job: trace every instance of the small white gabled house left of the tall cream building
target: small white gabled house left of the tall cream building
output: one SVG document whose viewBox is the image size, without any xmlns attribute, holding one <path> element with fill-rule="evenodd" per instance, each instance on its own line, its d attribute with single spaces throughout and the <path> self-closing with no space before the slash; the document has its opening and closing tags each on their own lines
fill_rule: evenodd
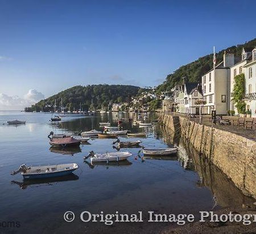
<svg viewBox="0 0 256 234">
<path fill-rule="evenodd" d="M 184 110 L 187 114 L 199 114 L 200 105 L 195 104 L 198 99 L 203 99 L 201 86 L 197 83 L 184 85 Z"/>
</svg>

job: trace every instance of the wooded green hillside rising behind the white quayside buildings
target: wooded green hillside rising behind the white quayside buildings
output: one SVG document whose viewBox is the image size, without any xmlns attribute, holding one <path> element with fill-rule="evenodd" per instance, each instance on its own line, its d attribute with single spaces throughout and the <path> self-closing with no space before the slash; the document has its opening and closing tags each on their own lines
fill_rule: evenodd
<svg viewBox="0 0 256 234">
<path fill-rule="evenodd" d="M 255 47 L 256 39 L 246 42 L 243 45 L 231 46 L 229 48 L 223 49 L 216 53 L 217 63 L 223 60 L 224 51 L 234 53 L 237 59 L 241 59 L 241 52 L 243 47 Z M 174 71 L 174 73 L 167 75 L 166 80 L 163 84 L 158 86 L 158 92 L 160 91 L 170 91 L 175 84 L 181 84 L 183 78 L 186 82 L 200 82 L 201 76 L 212 69 L 213 66 L 213 54 L 208 54 L 207 56 L 201 57 L 194 62 L 188 63 L 187 65 L 181 66 L 179 69 Z"/>
</svg>

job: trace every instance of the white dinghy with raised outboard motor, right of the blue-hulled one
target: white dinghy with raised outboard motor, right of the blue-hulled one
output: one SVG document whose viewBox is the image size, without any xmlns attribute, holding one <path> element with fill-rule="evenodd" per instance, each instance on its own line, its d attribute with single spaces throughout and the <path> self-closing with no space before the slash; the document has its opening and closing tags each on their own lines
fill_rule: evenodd
<svg viewBox="0 0 256 234">
<path fill-rule="evenodd" d="M 132 154 L 130 152 L 106 152 L 105 154 L 94 154 L 93 151 L 89 153 L 87 157 L 84 159 L 87 159 L 90 157 L 91 163 L 94 162 L 106 162 L 109 163 L 110 161 L 122 161 L 129 158 Z"/>
</svg>

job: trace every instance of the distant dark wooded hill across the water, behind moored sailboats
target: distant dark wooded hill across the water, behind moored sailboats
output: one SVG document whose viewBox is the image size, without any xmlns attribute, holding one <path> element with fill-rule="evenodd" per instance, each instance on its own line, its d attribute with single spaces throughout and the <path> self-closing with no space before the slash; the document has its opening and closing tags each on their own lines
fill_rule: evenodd
<svg viewBox="0 0 256 234">
<path fill-rule="evenodd" d="M 108 105 L 113 103 L 129 103 L 131 96 L 135 96 L 141 91 L 142 89 L 137 86 L 126 85 L 75 86 L 39 101 L 39 103 L 32 105 L 31 108 L 25 108 L 25 111 L 43 110 L 48 112 L 53 110 L 55 100 L 57 109 L 60 109 L 61 99 L 63 100 L 63 107 L 66 108 L 65 110 L 73 111 L 74 108 L 78 110 L 80 103 L 84 110 L 101 109 L 102 105 L 107 108 Z"/>
</svg>

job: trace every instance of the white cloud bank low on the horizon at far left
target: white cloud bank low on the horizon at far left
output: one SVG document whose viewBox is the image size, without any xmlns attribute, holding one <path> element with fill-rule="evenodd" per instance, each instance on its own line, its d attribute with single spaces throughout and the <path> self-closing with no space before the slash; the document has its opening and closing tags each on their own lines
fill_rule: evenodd
<svg viewBox="0 0 256 234">
<path fill-rule="evenodd" d="M 32 104 L 44 99 L 44 95 L 36 90 L 29 90 L 24 99 L 18 96 L 9 96 L 0 93 L 0 110 L 23 110 L 24 107 L 30 107 Z"/>
</svg>

